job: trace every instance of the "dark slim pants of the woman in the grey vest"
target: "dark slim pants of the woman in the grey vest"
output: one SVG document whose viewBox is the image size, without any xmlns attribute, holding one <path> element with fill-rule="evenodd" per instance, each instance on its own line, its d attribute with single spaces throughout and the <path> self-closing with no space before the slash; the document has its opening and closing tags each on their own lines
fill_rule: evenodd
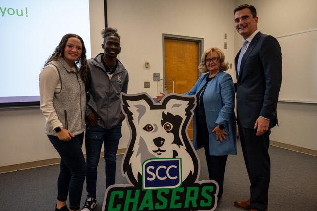
<svg viewBox="0 0 317 211">
<path fill-rule="evenodd" d="M 84 133 L 72 137 L 70 141 L 62 141 L 57 136 L 48 135 L 48 137 L 61 158 L 57 181 L 57 199 L 64 202 L 67 200 L 69 193 L 69 208 L 78 210 L 87 173 L 85 158 L 81 149 Z"/>
</svg>

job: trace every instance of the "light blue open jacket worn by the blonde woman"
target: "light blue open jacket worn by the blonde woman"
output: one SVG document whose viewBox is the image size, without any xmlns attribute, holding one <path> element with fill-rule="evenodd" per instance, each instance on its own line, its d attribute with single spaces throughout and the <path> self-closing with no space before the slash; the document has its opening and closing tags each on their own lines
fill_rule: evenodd
<svg viewBox="0 0 317 211">
<path fill-rule="evenodd" d="M 197 80 L 193 88 L 184 93 L 184 95 L 196 95 L 205 85 L 209 73 L 202 75 Z M 237 125 L 234 113 L 234 85 L 231 76 L 228 73 L 220 71 L 216 77 L 208 82 L 204 92 L 204 107 L 209 133 L 209 152 L 210 155 L 222 156 L 228 154 L 237 154 Z M 224 125 L 226 140 L 222 143 L 216 140 L 216 133 L 211 131 L 217 125 Z M 203 140 L 197 140 L 196 110 L 194 111 L 194 147 L 200 149 L 203 146 Z"/>
</svg>

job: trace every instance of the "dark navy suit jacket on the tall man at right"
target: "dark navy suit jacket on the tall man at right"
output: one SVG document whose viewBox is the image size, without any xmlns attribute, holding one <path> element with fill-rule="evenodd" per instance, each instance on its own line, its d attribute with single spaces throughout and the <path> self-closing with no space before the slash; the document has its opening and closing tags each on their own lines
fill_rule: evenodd
<svg viewBox="0 0 317 211">
<path fill-rule="evenodd" d="M 240 49 L 241 51 L 241 49 Z M 239 53 L 235 58 L 237 63 Z M 282 83 L 282 53 L 278 41 L 258 32 L 243 55 L 237 75 L 237 115 L 243 127 L 253 129 L 259 116 L 277 122 L 277 101 Z"/>
</svg>

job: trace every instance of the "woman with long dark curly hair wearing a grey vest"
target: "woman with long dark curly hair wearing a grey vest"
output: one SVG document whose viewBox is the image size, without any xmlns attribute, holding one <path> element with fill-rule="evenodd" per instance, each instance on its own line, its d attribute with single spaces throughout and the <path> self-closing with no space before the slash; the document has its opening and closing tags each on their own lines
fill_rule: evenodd
<svg viewBox="0 0 317 211">
<path fill-rule="evenodd" d="M 87 173 L 82 144 L 85 131 L 84 81 L 87 59 L 84 41 L 66 34 L 45 62 L 39 76 L 40 109 L 45 132 L 61 157 L 55 211 L 79 211 Z"/>
</svg>

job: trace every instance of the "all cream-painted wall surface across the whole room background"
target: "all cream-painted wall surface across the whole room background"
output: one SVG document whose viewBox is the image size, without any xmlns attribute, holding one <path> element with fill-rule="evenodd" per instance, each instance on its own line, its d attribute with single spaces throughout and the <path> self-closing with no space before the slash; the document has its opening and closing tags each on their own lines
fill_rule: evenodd
<svg viewBox="0 0 317 211">
<path fill-rule="evenodd" d="M 295 0 L 107 0 L 108 26 L 118 29 L 122 46 L 118 58 L 130 75 L 128 93 L 156 95 L 153 73 L 163 75 L 162 34 L 204 38 L 204 49 L 223 49 L 227 42 L 224 53 L 233 64 L 242 42 L 234 29 L 233 9 L 244 3 L 257 8 L 263 33 L 281 36 L 317 28 L 315 0 L 303 0 L 300 6 Z M 103 8 L 103 0 L 90 0 L 92 56 L 102 52 Z M 145 58 L 150 68 L 144 67 Z M 228 72 L 235 78 L 233 69 Z M 150 81 L 151 88 L 143 88 L 144 81 Z M 312 133 L 317 123 L 317 105 L 279 103 L 278 117 L 280 127 L 272 130 L 272 140 L 317 150 L 317 138 Z M 59 158 L 44 134 L 44 123 L 38 107 L 0 109 L 0 167 Z M 119 148 L 125 148 L 128 139 L 124 124 Z"/>
</svg>

